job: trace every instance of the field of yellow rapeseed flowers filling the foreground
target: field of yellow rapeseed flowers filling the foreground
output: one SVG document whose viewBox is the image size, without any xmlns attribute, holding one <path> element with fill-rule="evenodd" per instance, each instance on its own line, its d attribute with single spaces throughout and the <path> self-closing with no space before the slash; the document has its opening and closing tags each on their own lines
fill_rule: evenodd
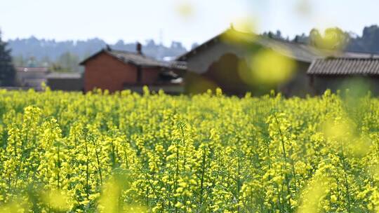
<svg viewBox="0 0 379 213">
<path fill-rule="evenodd" d="M 379 100 L 0 90 L 0 212 L 379 212 Z"/>
</svg>

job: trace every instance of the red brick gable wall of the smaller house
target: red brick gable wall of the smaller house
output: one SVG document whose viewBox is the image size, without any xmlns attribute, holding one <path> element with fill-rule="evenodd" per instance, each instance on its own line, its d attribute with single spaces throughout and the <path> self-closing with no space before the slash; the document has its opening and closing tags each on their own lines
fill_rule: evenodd
<svg viewBox="0 0 379 213">
<path fill-rule="evenodd" d="M 136 80 L 137 68 L 135 66 L 120 62 L 106 53 L 100 53 L 86 62 L 84 73 L 86 92 L 93 88 L 107 89 L 109 92 L 123 90 L 124 84 L 134 84 Z"/>
</svg>

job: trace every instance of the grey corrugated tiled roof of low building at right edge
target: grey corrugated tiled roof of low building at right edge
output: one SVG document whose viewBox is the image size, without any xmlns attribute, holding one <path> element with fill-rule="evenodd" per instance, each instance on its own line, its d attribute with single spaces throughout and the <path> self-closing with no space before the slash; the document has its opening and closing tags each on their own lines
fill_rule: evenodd
<svg viewBox="0 0 379 213">
<path fill-rule="evenodd" d="M 307 74 L 379 75 L 379 58 L 339 57 L 314 60 Z"/>
</svg>

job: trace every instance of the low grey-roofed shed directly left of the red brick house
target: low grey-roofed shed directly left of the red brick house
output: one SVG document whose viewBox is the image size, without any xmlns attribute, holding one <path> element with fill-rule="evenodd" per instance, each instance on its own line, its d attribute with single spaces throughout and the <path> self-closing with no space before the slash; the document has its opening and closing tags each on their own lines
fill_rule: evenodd
<svg viewBox="0 0 379 213">
<path fill-rule="evenodd" d="M 51 90 L 84 90 L 83 75 L 81 73 L 50 73 L 46 76 L 46 84 Z"/>
</svg>

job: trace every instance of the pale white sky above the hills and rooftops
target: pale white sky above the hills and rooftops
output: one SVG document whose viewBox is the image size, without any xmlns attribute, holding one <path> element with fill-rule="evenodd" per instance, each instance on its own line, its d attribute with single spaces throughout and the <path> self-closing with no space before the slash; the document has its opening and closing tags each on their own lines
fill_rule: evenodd
<svg viewBox="0 0 379 213">
<path fill-rule="evenodd" d="M 181 41 L 189 47 L 246 18 L 258 33 L 280 29 L 288 36 L 333 26 L 361 34 L 364 26 L 379 24 L 378 0 L 2 1 L 0 29 L 6 40 L 98 37 L 115 43 L 163 38 L 166 45 Z"/>
</svg>

